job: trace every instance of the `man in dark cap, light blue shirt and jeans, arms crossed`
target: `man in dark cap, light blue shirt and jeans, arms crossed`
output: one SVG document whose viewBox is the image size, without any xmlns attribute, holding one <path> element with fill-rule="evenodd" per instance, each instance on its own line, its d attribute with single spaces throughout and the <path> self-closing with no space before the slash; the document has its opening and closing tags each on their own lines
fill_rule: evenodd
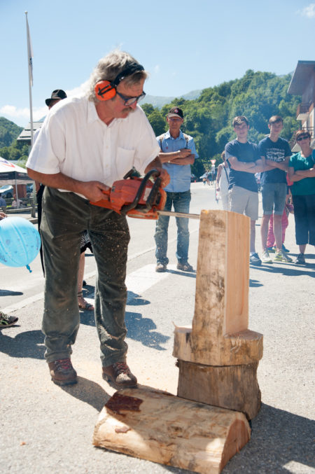
<svg viewBox="0 0 315 474">
<path fill-rule="evenodd" d="M 181 132 L 183 125 L 183 111 L 179 107 L 172 107 L 167 114 L 169 130 L 157 137 L 160 145 L 159 158 L 163 168 L 171 177 L 170 183 L 165 187 L 167 201 L 165 211 L 171 211 L 172 206 L 176 212 L 189 212 L 190 204 L 190 165 L 198 158 L 193 137 Z M 189 230 L 188 218 L 177 218 L 177 268 L 184 272 L 193 272 L 193 267 L 188 263 Z M 167 258 L 167 231 L 169 216 L 160 216 L 155 228 L 155 256 L 156 272 L 165 272 L 169 259 Z"/>
</svg>

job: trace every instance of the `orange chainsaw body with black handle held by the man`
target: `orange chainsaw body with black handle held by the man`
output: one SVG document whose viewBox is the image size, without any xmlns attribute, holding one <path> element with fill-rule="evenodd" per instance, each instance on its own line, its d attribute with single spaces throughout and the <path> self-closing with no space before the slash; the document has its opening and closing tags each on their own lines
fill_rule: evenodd
<svg viewBox="0 0 315 474">
<path fill-rule="evenodd" d="M 165 207 L 166 193 L 161 187 L 161 179 L 156 169 L 151 169 L 143 179 L 131 176 L 132 170 L 124 179 L 115 181 L 112 188 L 103 191 L 106 198 L 91 202 L 95 206 L 113 209 L 118 214 L 130 217 L 158 219 L 158 211 Z M 155 176 L 153 183 L 150 178 Z"/>
</svg>

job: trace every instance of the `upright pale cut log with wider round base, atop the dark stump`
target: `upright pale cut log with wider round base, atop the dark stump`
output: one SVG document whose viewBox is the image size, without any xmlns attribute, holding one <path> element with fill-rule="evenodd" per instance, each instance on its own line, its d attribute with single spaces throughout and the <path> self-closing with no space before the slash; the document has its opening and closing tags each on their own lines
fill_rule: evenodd
<svg viewBox="0 0 315 474">
<path fill-rule="evenodd" d="M 174 357 L 240 365 L 262 357 L 262 335 L 248 330 L 250 219 L 202 211 L 192 328 L 176 328 Z"/>
</svg>

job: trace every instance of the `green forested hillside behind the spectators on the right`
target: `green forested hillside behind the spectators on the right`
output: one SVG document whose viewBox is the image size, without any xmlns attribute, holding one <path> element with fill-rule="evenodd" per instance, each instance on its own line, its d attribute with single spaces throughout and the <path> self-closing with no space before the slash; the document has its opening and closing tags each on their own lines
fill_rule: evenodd
<svg viewBox="0 0 315 474">
<path fill-rule="evenodd" d="M 182 130 L 195 139 L 200 160 L 193 165 L 193 173 L 200 176 L 210 167 L 210 159 L 221 162 L 221 152 L 225 144 L 235 138 L 232 120 L 245 115 L 251 125 L 248 139 L 258 143 L 269 132 L 267 127 L 271 116 L 283 117 L 284 127 L 281 136 L 292 139 L 300 123 L 295 120 L 300 97 L 288 95 L 291 76 L 276 76 L 268 72 L 246 71 L 241 79 L 235 79 L 207 88 L 194 100 L 174 99 L 162 109 L 144 104 L 148 120 L 159 135 L 167 130 L 165 117 L 172 106 L 180 106 L 184 113 Z"/>
</svg>

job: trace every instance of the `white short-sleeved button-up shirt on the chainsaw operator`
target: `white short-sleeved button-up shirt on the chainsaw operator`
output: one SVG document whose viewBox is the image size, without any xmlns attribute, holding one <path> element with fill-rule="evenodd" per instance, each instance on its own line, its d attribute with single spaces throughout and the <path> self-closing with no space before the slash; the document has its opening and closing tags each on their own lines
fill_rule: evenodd
<svg viewBox="0 0 315 474">
<path fill-rule="evenodd" d="M 116 118 L 106 125 L 93 102 L 87 97 L 73 97 L 60 101 L 48 113 L 27 167 L 112 186 L 132 167 L 144 174 L 159 152 L 141 107 L 127 118 Z"/>
</svg>

